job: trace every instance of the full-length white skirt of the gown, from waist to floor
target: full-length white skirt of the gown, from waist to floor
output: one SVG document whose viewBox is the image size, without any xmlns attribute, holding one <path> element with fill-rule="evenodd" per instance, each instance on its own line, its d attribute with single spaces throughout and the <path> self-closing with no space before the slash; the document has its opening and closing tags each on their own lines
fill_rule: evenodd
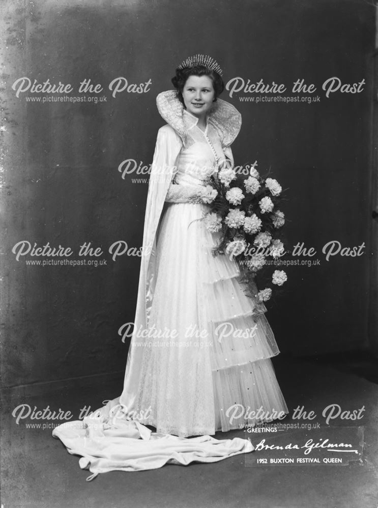
<svg viewBox="0 0 378 508">
<path fill-rule="evenodd" d="M 235 260 L 213 256 L 220 233 L 208 206 L 165 204 L 157 233 L 157 278 L 143 342 L 136 408 L 158 433 L 213 435 L 288 412 L 271 357 L 279 353 L 265 315 L 252 317 Z"/>
</svg>

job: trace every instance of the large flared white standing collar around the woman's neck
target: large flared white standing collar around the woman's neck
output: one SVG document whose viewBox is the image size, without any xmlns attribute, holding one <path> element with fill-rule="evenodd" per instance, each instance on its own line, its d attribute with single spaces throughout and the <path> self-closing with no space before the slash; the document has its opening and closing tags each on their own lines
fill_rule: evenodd
<svg viewBox="0 0 378 508">
<path fill-rule="evenodd" d="M 186 111 L 176 90 L 159 93 L 156 105 L 162 118 L 175 129 L 185 144 L 186 134 L 197 124 L 198 118 Z M 239 111 L 229 102 L 219 98 L 208 112 L 207 120 L 219 132 L 223 146 L 228 146 L 235 140 L 242 125 L 242 115 Z"/>
</svg>

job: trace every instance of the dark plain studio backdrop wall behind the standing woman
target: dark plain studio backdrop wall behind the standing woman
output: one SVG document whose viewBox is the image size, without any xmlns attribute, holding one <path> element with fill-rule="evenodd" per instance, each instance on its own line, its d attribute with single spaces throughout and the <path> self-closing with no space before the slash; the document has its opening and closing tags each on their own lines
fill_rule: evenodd
<svg viewBox="0 0 378 508">
<path fill-rule="evenodd" d="M 237 165 L 271 168 L 286 190 L 286 244 L 304 243 L 318 266 L 284 268 L 284 294 L 268 303 L 281 352 L 313 355 L 368 343 L 371 277 L 371 107 L 374 6 L 364 1 L 285 2 L 8 2 L 3 92 L 6 228 L 3 236 L 2 375 L 5 386 L 122 371 L 128 343 L 120 326 L 133 322 L 148 184 L 125 175 L 128 159 L 149 165 L 164 121 L 155 99 L 172 88 L 175 67 L 200 52 L 215 57 L 225 82 L 313 83 L 312 104 L 221 98 L 242 114 L 232 145 Z M 330 94 L 333 76 L 365 84 L 359 93 Z M 20 92 L 28 77 L 71 84 L 67 94 L 106 102 L 27 102 L 64 93 Z M 124 77 L 143 92 L 112 97 Z M 78 93 L 83 80 L 103 91 Z M 131 87 L 132 88 L 132 87 Z M 278 94 L 266 94 L 269 97 Z M 105 266 L 32 266 L 16 260 L 21 241 L 103 250 Z M 126 241 L 115 261 L 110 245 Z M 360 246 L 363 255 L 335 255 L 323 246 Z M 134 247 L 134 250 L 132 249 Z M 370 246 L 371 250 L 371 246 Z M 47 259 L 44 257 L 43 259 Z M 89 255 L 81 259 L 91 259 Z M 298 259 L 306 259 L 300 256 Z M 120 387 L 121 389 L 121 387 Z"/>
</svg>

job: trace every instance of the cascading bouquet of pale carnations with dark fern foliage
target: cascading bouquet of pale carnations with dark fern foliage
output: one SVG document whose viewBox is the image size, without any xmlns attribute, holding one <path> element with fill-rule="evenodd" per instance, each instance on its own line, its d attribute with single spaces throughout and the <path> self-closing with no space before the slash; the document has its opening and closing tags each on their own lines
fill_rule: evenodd
<svg viewBox="0 0 378 508">
<path fill-rule="evenodd" d="M 271 298 L 273 287 L 282 286 L 287 276 L 283 270 L 274 270 L 266 287 L 258 289 L 257 277 L 263 278 L 261 274 L 267 272 L 268 265 L 274 264 L 268 260 L 277 260 L 285 253 L 279 231 L 285 219 L 277 208 L 282 199 L 281 185 L 273 178 L 261 177 L 256 166 L 257 162 L 248 177 L 223 166 L 209 178 L 217 197 L 203 220 L 210 232 L 222 232 L 213 253 L 226 254 L 238 262 L 241 280 L 255 301 L 254 315 L 258 317 L 265 312 L 263 302 Z"/>
</svg>

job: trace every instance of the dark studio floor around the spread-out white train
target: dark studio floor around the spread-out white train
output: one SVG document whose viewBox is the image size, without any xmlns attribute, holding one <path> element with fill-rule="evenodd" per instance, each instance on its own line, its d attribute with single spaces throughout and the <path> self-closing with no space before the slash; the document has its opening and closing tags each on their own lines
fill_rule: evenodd
<svg viewBox="0 0 378 508">
<path fill-rule="evenodd" d="M 366 361 L 353 356 L 350 367 L 346 368 L 347 362 L 340 367 L 336 357 L 333 361 L 332 358 L 328 361 L 295 359 L 285 355 L 273 359 L 290 411 L 286 423 L 293 421 L 293 411 L 298 406 L 319 416 L 329 404 L 339 404 L 343 410 L 351 411 L 365 407 L 358 422 L 338 419 L 330 423 L 362 427 L 364 460 L 345 466 L 257 465 L 250 460 L 248 463 L 247 456 L 257 453 L 252 452 L 212 464 L 166 465 L 140 472 L 112 471 L 85 482 L 89 471 L 80 469 L 79 458 L 67 453 L 62 442 L 52 438 L 51 428 L 27 428 L 27 424 L 38 421 L 24 418 L 16 422 L 12 411 L 21 404 L 26 404 L 26 409 L 30 406 L 31 410 L 34 406 L 37 409 L 49 406 L 51 410 L 70 410 L 76 420 L 84 407 L 94 410 L 103 400 L 119 396 L 123 373 L 8 389 L 2 397 L 2 506 L 376 508 L 378 385 L 373 383 L 374 369 L 361 367 L 361 362 Z M 20 409 L 17 411 L 20 414 Z M 56 420 L 43 423 L 55 425 Z M 215 435 L 219 439 L 236 436 L 245 438 L 246 433 L 236 430 Z M 261 440 L 258 433 L 247 437 L 253 444 Z M 284 443 L 287 439 L 286 432 L 281 432 L 279 440 Z"/>
</svg>

